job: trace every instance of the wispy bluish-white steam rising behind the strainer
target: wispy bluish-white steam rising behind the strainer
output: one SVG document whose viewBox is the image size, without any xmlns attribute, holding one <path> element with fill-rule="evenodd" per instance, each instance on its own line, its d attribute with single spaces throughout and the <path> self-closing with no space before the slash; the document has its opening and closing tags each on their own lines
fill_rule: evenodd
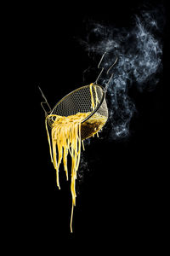
<svg viewBox="0 0 170 256">
<path fill-rule="evenodd" d="M 88 54 L 99 59 L 106 51 L 101 65 L 105 70 L 118 57 L 116 66 L 111 70 L 114 75 L 107 90 L 111 139 L 129 135 L 130 121 L 136 110 L 129 90 L 134 86 L 140 92 L 156 88 L 162 68 L 163 23 L 161 10 L 155 9 L 134 16 L 133 26 L 129 28 L 118 29 L 96 22 L 88 24 L 88 36 L 81 42 Z M 99 84 L 107 86 L 108 79 L 104 73 Z"/>
</svg>

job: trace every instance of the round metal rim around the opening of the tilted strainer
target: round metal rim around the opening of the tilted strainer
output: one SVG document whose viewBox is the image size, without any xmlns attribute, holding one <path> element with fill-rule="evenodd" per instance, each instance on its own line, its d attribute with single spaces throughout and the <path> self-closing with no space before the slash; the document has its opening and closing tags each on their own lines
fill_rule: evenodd
<svg viewBox="0 0 170 256">
<path fill-rule="evenodd" d="M 77 90 L 81 90 L 82 88 L 89 87 L 89 85 L 90 85 L 90 84 L 84 85 L 84 86 L 82 86 L 82 87 L 79 87 L 79 88 L 77 88 L 76 90 L 72 90 L 70 93 L 68 93 L 67 95 L 65 95 L 62 99 L 59 100 L 59 102 L 57 102 L 57 103 L 55 104 L 54 108 L 53 108 L 52 111 L 51 111 L 51 114 L 53 114 L 54 109 L 59 105 L 60 102 L 63 102 L 67 96 L 70 96 L 71 94 L 73 94 L 73 93 L 76 92 Z M 99 85 L 99 84 L 94 84 L 94 85 L 95 85 L 95 86 L 99 86 L 99 87 L 101 88 L 101 90 L 103 91 L 103 95 L 102 95 L 102 98 L 101 98 L 99 104 L 97 105 L 97 107 L 94 109 L 94 111 L 92 111 L 92 112 L 88 115 L 87 118 L 85 118 L 85 119 L 82 120 L 82 123 L 84 123 L 85 121 L 87 121 L 92 115 L 94 115 L 94 113 L 96 113 L 96 112 L 98 111 L 99 107 L 101 106 L 101 104 L 104 102 L 104 99 L 105 99 L 105 93 L 106 93 L 105 88 L 104 88 L 102 85 Z"/>
</svg>

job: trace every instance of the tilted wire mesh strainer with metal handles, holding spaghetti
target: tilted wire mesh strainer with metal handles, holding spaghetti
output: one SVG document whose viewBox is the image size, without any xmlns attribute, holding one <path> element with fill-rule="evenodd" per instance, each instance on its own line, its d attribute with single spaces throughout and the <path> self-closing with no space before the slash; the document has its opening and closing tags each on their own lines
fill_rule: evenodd
<svg viewBox="0 0 170 256">
<path fill-rule="evenodd" d="M 101 61 L 104 58 L 104 55 L 102 55 L 99 61 L 98 68 L 100 66 Z M 116 64 L 116 61 L 111 67 L 113 67 Z M 109 71 L 111 70 L 111 67 L 108 69 L 107 73 L 109 73 Z M 90 84 L 82 86 L 77 90 L 71 91 L 71 93 L 63 97 L 54 106 L 52 111 L 50 110 L 50 114 L 56 114 L 56 115 L 65 116 L 65 117 L 70 115 L 75 115 L 77 113 L 88 113 L 88 116 L 82 120 L 82 125 L 81 125 L 82 140 L 87 139 L 88 137 L 92 137 L 95 133 L 101 130 L 101 128 L 105 125 L 106 120 L 108 119 L 108 108 L 105 101 L 105 94 L 106 94 L 107 85 L 110 83 L 113 74 L 111 74 L 111 78 L 109 79 L 108 83 L 104 88 L 103 86 L 97 84 L 98 79 L 101 73 L 103 72 L 103 70 L 104 70 L 104 67 L 102 67 L 102 70 L 99 73 L 99 76 L 94 83 L 95 90 L 94 90 L 94 86 L 91 87 L 92 88 L 91 92 L 94 96 L 94 102 L 96 102 L 96 96 L 99 99 L 99 102 L 98 104 L 96 104 L 93 111 L 92 111 L 92 96 L 90 92 Z M 43 94 L 42 96 L 45 98 Z M 47 100 L 45 103 L 48 103 Z M 46 111 L 45 113 L 47 114 Z M 48 125 L 52 127 L 53 123 L 54 123 L 54 117 L 50 117 L 48 119 Z"/>
</svg>

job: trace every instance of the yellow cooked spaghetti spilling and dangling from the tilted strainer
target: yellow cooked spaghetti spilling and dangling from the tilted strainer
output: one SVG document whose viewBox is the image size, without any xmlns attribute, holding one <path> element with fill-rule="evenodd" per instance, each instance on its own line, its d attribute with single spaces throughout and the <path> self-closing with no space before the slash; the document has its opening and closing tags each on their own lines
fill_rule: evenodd
<svg viewBox="0 0 170 256">
<path fill-rule="evenodd" d="M 91 93 L 91 101 L 92 101 L 92 111 L 96 108 L 99 103 L 99 99 L 97 96 L 97 92 L 94 87 L 95 92 L 95 102 L 93 96 L 93 89 L 90 84 L 90 93 Z M 73 209 L 76 206 L 76 179 L 77 179 L 77 170 L 80 163 L 80 155 L 81 155 L 81 142 L 83 145 L 83 138 L 81 137 L 81 131 L 84 129 L 90 129 L 91 136 L 94 134 L 98 134 L 98 131 L 105 125 L 106 117 L 99 114 L 94 113 L 86 122 L 82 123 L 83 119 L 86 119 L 88 113 L 77 113 L 74 115 L 59 116 L 56 114 L 49 114 L 45 119 L 46 130 L 48 134 L 48 143 L 51 160 L 54 164 L 54 168 L 56 170 L 56 182 L 57 186 L 59 186 L 59 165 L 61 160 L 63 160 L 65 175 L 68 180 L 68 168 L 67 168 L 67 156 L 71 154 L 71 195 L 72 195 L 72 210 L 71 210 L 71 232 L 72 232 L 72 217 L 73 217 Z M 51 139 L 48 133 L 48 121 L 51 126 Z M 58 160 L 56 153 L 56 146 L 58 148 Z"/>
</svg>

